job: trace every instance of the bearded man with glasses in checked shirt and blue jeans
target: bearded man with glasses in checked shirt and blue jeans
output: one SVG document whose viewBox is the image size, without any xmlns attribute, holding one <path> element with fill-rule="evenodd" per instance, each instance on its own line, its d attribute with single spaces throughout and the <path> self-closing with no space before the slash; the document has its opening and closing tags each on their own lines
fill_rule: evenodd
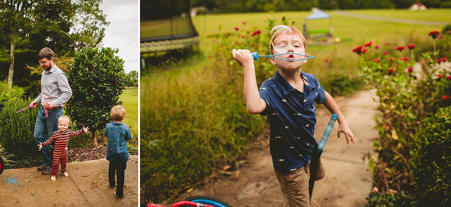
<svg viewBox="0 0 451 207">
<path fill-rule="evenodd" d="M 38 54 L 39 63 L 41 64 L 41 94 L 30 103 L 35 108 L 41 99 L 44 99 L 42 107 L 37 114 L 36 123 L 34 125 L 34 140 L 36 144 L 45 142 L 46 135 L 51 137 L 53 132 L 57 130 L 58 118 L 63 116 L 64 104 L 72 97 L 72 90 L 67 81 L 66 74 L 53 63 L 55 54 L 50 48 L 43 48 Z M 47 113 L 44 111 L 47 110 Z M 39 152 L 44 159 L 44 164 L 37 167 L 38 171 L 43 171 L 42 175 L 50 175 L 52 164 L 52 151 L 55 143 L 43 147 Z M 57 169 L 58 170 L 58 169 Z"/>
</svg>

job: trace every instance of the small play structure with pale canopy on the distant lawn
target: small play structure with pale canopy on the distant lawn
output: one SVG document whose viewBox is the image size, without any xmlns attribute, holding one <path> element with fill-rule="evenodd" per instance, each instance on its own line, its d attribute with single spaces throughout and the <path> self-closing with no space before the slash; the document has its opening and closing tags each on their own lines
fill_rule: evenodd
<svg viewBox="0 0 451 207">
<path fill-rule="evenodd" d="M 327 24 L 327 19 L 329 19 L 329 28 L 324 28 L 325 24 Z M 315 24 L 312 22 L 315 21 Z M 321 22 L 319 22 L 321 21 Z M 311 25 L 318 25 L 317 27 L 313 27 Z M 305 18 L 305 23 L 303 25 L 304 36 L 309 42 L 309 44 L 330 44 L 332 43 L 332 35 L 333 35 L 333 25 L 332 25 L 332 17 L 330 14 L 322 11 L 318 8 L 312 9 L 312 14 L 309 14 Z"/>
</svg>

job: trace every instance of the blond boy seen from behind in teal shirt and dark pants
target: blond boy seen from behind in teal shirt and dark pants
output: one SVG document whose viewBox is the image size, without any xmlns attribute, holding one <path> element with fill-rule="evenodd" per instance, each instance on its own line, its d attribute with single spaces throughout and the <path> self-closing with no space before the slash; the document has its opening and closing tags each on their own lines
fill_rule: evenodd
<svg viewBox="0 0 451 207">
<path fill-rule="evenodd" d="M 106 124 L 103 135 L 108 140 L 106 149 L 106 160 L 110 161 L 108 170 L 108 180 L 110 187 L 116 187 L 114 194 L 118 198 L 124 198 L 124 172 L 127 168 L 129 160 L 129 151 L 127 149 L 127 141 L 132 139 L 129 126 L 122 123 L 125 118 L 125 108 L 121 105 L 111 108 L 110 117 L 113 119 L 111 123 Z M 117 183 L 115 183 L 115 174 Z"/>
</svg>

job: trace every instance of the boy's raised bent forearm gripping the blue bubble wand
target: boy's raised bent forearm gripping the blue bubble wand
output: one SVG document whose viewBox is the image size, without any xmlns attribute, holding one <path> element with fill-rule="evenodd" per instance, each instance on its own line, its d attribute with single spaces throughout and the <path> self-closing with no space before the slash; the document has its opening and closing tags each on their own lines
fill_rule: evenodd
<svg viewBox="0 0 451 207">
<path fill-rule="evenodd" d="M 266 108 L 265 101 L 260 98 L 257 87 L 257 79 L 255 78 L 255 66 L 253 57 L 249 49 L 233 49 L 232 56 L 243 66 L 244 71 L 244 101 L 248 112 L 252 114 L 259 114 Z"/>
</svg>

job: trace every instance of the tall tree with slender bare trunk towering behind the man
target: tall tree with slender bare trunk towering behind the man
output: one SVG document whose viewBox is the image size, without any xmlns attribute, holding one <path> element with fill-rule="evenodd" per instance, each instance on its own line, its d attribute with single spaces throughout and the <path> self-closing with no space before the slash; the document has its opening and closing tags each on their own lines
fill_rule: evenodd
<svg viewBox="0 0 451 207">
<path fill-rule="evenodd" d="M 109 24 L 100 4 L 101 0 L 0 1 L 0 62 L 9 63 L 9 87 L 18 54 L 28 54 L 20 62 L 35 63 L 36 53 L 46 46 L 63 54 L 98 46 Z"/>
</svg>

